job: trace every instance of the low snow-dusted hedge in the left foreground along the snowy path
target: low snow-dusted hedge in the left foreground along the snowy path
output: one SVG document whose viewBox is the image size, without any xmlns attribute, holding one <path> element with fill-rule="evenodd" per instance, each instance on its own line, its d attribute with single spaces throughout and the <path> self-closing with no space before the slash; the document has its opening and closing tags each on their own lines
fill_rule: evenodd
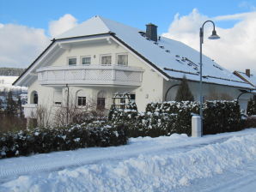
<svg viewBox="0 0 256 192">
<path fill-rule="evenodd" d="M 74 125 L 67 128 L 31 129 L 0 135 L 0 158 L 73 150 L 81 147 L 124 145 L 127 137 L 122 124 Z"/>
</svg>

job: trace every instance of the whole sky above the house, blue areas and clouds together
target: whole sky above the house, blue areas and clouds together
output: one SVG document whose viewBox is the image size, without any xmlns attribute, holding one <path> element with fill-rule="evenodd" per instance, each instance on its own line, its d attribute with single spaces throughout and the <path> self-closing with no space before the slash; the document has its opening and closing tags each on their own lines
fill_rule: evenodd
<svg viewBox="0 0 256 192">
<path fill-rule="evenodd" d="M 0 67 L 27 68 L 60 33 L 94 15 L 145 29 L 152 22 L 158 34 L 199 49 L 199 27 L 216 23 L 218 40 L 208 40 L 203 52 L 233 70 L 256 75 L 256 0 L 0 0 Z"/>
</svg>

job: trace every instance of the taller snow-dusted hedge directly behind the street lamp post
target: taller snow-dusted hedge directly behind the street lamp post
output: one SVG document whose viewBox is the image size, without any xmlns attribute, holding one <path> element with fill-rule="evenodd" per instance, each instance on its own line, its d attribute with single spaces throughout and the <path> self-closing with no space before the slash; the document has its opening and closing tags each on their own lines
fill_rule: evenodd
<svg viewBox="0 0 256 192">
<path fill-rule="evenodd" d="M 241 112 L 235 101 L 207 101 L 204 107 L 204 135 L 242 129 Z M 191 118 L 198 114 L 198 102 L 150 103 L 146 112 L 125 109 L 112 111 L 113 123 L 125 123 L 128 137 L 192 134 Z"/>
</svg>

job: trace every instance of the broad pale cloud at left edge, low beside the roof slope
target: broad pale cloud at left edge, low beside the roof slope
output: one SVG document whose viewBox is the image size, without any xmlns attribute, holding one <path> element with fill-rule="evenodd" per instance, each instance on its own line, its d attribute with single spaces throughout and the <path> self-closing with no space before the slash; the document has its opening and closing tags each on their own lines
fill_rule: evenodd
<svg viewBox="0 0 256 192">
<path fill-rule="evenodd" d="M 0 24 L 0 42 L 0 67 L 24 68 L 46 48 L 50 40 L 43 29 Z"/>
</svg>

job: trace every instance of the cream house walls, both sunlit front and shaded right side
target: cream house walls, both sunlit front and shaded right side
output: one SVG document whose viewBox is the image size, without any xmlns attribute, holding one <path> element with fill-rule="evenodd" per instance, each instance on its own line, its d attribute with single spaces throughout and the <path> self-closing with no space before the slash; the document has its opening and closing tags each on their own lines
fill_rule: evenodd
<svg viewBox="0 0 256 192">
<path fill-rule="evenodd" d="M 155 69 L 150 67 L 145 63 L 141 58 L 137 57 L 136 54 L 129 51 L 123 45 L 119 45 L 113 40 L 107 41 L 101 40 L 101 42 L 96 43 L 82 43 L 79 45 L 71 45 L 68 49 L 61 51 L 62 53 L 58 57 L 54 57 L 52 61 L 47 61 L 44 64 L 44 67 L 69 67 L 68 58 L 76 57 L 76 65 L 82 65 L 81 57 L 91 57 L 91 66 L 101 65 L 101 56 L 102 55 L 111 55 L 112 56 L 112 65 L 117 65 L 117 56 L 120 53 L 125 53 L 128 55 L 128 67 L 134 67 L 138 69 L 143 69 L 142 81 L 140 86 L 119 86 L 119 85 L 93 85 L 93 84 L 70 84 L 68 85 L 70 90 L 70 102 L 74 102 L 77 105 L 76 94 L 78 91 L 82 91 L 84 96 L 87 99 L 89 105 L 96 105 L 97 95 L 99 92 L 104 91 L 106 93 L 106 109 L 110 109 L 110 106 L 113 104 L 113 94 L 114 93 L 135 93 L 136 94 L 136 103 L 138 111 L 144 111 L 146 105 L 149 102 L 162 102 L 164 100 L 174 100 L 178 87 L 180 84 L 178 80 L 166 81 L 162 75 L 159 74 Z M 188 85 L 191 88 L 192 94 L 194 95 L 195 100 L 199 100 L 199 83 L 188 81 Z M 172 87 L 169 91 L 168 89 Z M 39 95 L 39 105 L 44 105 L 47 108 L 51 108 L 52 117 L 54 112 L 59 109 L 61 106 L 66 106 L 67 87 L 63 85 L 47 85 L 42 86 L 38 79 L 36 79 L 28 87 L 28 105 L 33 104 L 32 93 L 36 91 Z M 166 93 L 167 97 L 166 97 Z M 216 84 L 206 84 L 203 83 L 203 95 L 204 99 L 212 99 L 213 96 L 220 99 L 222 96 L 226 96 L 229 99 L 237 99 L 241 92 L 237 87 L 222 86 Z M 56 104 L 56 98 L 58 94 L 61 94 L 61 99 L 58 100 L 61 102 L 61 105 Z M 228 97 L 229 95 L 229 97 Z M 59 96 L 59 95 L 58 95 Z M 250 95 L 242 95 L 240 102 L 241 108 L 246 110 L 247 108 L 247 99 Z"/>
</svg>

